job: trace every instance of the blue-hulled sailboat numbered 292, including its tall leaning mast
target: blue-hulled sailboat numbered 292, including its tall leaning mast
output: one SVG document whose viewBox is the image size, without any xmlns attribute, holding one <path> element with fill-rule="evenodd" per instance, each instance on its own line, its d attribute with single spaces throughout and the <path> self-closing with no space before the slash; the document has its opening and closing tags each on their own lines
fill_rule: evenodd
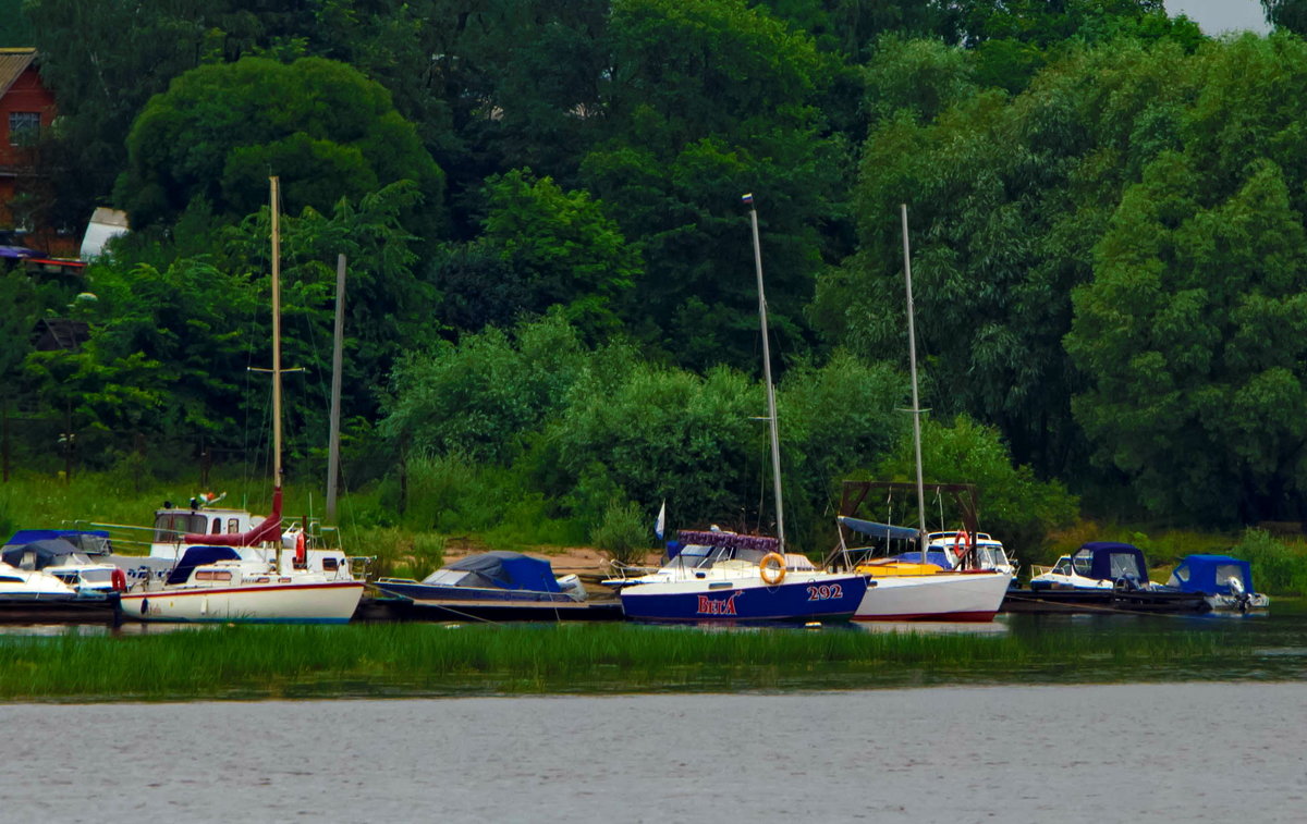
<svg viewBox="0 0 1307 824">
<path fill-rule="evenodd" d="M 763 383 L 767 388 L 771 469 L 776 499 L 776 535 L 741 535 L 719 529 L 680 533 L 684 547 L 660 569 L 638 578 L 606 581 L 620 586 L 626 618 L 644 622 L 748 623 L 847 620 L 867 594 L 867 576 L 817 569 L 802 555 L 786 552 L 780 495 L 780 445 L 776 394 L 771 385 L 767 302 L 762 293 L 758 212 L 745 195 L 753 222 L 762 324 Z"/>
</svg>

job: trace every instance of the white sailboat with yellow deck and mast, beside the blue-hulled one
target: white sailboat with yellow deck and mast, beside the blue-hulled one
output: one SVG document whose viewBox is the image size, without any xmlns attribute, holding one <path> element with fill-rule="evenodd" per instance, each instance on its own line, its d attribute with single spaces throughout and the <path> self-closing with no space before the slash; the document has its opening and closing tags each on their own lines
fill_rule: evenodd
<svg viewBox="0 0 1307 824">
<path fill-rule="evenodd" d="M 916 503 L 920 528 L 914 530 L 887 524 L 840 518 L 857 531 L 891 538 L 908 538 L 920 547 L 920 563 L 894 560 L 889 564 L 867 563 L 865 551 L 848 550 L 840 533 L 836 563 L 853 572 L 873 577 L 874 585 L 853 612 L 853 620 L 993 620 L 1012 582 L 1012 576 L 995 569 L 942 571 L 928 563 L 925 530 L 925 483 L 921 471 L 921 405 L 916 381 L 916 332 L 912 308 L 912 259 L 907 235 L 907 205 L 903 218 L 903 276 L 907 283 L 908 364 L 912 375 L 912 437 L 916 447 Z M 910 556 L 911 558 L 911 556 Z"/>
</svg>

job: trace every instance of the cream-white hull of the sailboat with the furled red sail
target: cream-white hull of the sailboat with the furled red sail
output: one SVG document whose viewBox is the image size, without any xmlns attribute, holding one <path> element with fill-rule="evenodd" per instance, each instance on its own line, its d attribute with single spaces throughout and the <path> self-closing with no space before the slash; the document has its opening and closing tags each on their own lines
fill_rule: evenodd
<svg viewBox="0 0 1307 824">
<path fill-rule="evenodd" d="M 142 622 L 344 624 L 362 595 L 362 581 L 178 588 L 125 593 L 122 615 Z"/>
</svg>

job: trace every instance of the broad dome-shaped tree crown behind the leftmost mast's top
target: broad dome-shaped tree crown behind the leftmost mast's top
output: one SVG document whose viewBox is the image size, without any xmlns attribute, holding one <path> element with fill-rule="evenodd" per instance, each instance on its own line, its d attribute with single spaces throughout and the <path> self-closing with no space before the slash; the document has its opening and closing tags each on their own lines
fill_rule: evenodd
<svg viewBox="0 0 1307 824">
<path fill-rule="evenodd" d="M 426 209 L 410 209 L 406 223 L 420 234 L 440 225 L 443 175 L 413 125 L 380 85 L 331 60 L 244 57 L 192 69 L 150 99 L 127 146 L 116 196 L 137 229 L 201 200 L 218 215 L 243 217 L 265 200 L 269 175 L 281 176 L 290 212 L 324 212 L 413 180 Z"/>
</svg>

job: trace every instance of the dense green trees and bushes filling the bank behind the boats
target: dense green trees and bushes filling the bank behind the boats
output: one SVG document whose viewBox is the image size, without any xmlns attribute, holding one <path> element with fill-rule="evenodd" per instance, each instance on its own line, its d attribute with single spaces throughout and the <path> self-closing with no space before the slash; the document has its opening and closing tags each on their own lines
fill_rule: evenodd
<svg viewBox="0 0 1307 824">
<path fill-rule="evenodd" d="M 769 529 L 752 192 L 805 548 L 842 479 L 912 474 L 901 204 L 925 473 L 987 528 L 1038 547 L 1072 494 L 1302 520 L 1297 5 L 1209 40 L 1161 0 L 26 0 L 55 212 L 137 231 L 86 282 L 0 273 L 18 440 L 47 470 L 56 428 L 101 467 L 252 452 L 276 174 L 291 453 L 319 469 L 346 253 L 374 526 L 587 541 L 667 500 Z M 34 351 L 54 316 L 86 345 Z"/>
</svg>

